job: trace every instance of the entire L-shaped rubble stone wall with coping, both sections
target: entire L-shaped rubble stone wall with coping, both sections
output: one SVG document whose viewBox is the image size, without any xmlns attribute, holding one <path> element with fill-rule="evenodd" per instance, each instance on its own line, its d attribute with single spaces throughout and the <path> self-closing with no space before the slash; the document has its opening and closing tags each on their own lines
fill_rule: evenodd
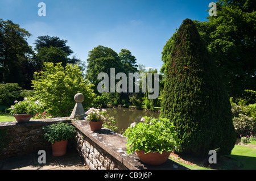
<svg viewBox="0 0 256 181">
<path fill-rule="evenodd" d="M 102 128 L 98 132 L 92 132 L 88 121 L 71 121 L 69 117 L 30 120 L 23 124 L 18 124 L 16 121 L 0 123 L 0 131 L 7 130 L 7 135 L 11 138 L 10 144 L 0 150 L 0 159 L 37 153 L 39 150 L 51 150 L 51 144 L 43 139 L 42 128 L 60 121 L 75 126 L 76 137 L 68 141 L 68 146 L 76 148 L 78 155 L 84 159 L 89 169 L 186 169 L 170 159 L 160 166 L 143 164 L 135 153 L 132 155 L 126 154 L 127 141 L 121 134 L 106 128 Z"/>
</svg>

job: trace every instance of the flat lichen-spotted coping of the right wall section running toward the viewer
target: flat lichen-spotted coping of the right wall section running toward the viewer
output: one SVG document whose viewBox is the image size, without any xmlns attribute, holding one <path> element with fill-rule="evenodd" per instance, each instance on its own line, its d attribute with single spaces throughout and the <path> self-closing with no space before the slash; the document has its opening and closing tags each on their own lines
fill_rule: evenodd
<svg viewBox="0 0 256 181">
<path fill-rule="evenodd" d="M 179 165 L 178 163 L 168 159 L 166 163 L 158 166 L 151 166 L 139 161 L 138 156 L 133 153 L 127 155 L 126 153 L 126 137 L 111 131 L 107 128 L 102 128 L 101 131 L 93 132 L 90 130 L 89 121 L 76 120 L 72 121 L 72 124 L 79 129 L 85 136 L 100 146 L 102 149 L 107 151 L 110 155 L 116 158 L 119 162 L 130 170 L 184 170 L 186 167 Z"/>
</svg>

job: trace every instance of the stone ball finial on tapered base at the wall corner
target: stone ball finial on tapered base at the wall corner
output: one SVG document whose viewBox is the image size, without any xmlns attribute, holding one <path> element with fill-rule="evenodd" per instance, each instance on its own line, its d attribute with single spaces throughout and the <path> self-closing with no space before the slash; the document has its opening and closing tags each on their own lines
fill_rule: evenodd
<svg viewBox="0 0 256 181">
<path fill-rule="evenodd" d="M 71 119 L 84 119 L 85 117 L 85 111 L 84 111 L 84 107 L 82 107 L 82 102 L 84 101 L 84 95 L 81 93 L 77 93 L 74 96 L 74 100 L 76 102 L 76 105 L 71 113 L 70 118 Z"/>
</svg>

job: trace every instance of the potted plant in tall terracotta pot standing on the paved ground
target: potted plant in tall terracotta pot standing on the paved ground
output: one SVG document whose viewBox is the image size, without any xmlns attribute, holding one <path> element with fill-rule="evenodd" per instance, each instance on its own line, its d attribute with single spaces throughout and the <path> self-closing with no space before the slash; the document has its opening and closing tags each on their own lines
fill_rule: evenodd
<svg viewBox="0 0 256 181">
<path fill-rule="evenodd" d="M 69 138 L 75 136 L 76 129 L 68 123 L 59 122 L 43 128 L 44 139 L 51 142 L 52 155 L 60 157 L 66 154 Z"/>
</svg>

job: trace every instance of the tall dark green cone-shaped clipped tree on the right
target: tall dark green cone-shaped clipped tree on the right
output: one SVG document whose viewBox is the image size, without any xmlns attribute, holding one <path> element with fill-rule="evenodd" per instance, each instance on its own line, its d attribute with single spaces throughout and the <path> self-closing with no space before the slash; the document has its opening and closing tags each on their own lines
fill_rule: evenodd
<svg viewBox="0 0 256 181">
<path fill-rule="evenodd" d="M 220 71 L 192 20 L 183 20 L 172 39 L 160 116 L 174 123 L 184 153 L 230 154 L 236 133 Z"/>
</svg>

